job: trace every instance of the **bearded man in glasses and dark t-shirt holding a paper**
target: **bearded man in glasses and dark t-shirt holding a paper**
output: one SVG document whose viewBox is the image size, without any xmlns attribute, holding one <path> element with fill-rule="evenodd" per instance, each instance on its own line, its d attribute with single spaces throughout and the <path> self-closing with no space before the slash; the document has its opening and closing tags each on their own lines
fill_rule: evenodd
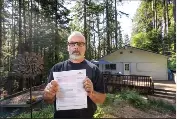
<svg viewBox="0 0 177 119">
<path fill-rule="evenodd" d="M 104 81 L 98 67 L 84 58 L 85 37 L 80 32 L 73 32 L 68 37 L 69 60 L 54 65 L 51 69 L 48 84 L 44 90 L 44 101 L 54 103 L 54 118 L 93 118 L 96 104 L 102 104 L 106 98 Z M 53 72 L 86 69 L 83 87 L 87 91 L 88 107 L 84 109 L 56 111 L 56 92 L 60 84 L 53 79 Z M 68 74 L 69 75 L 69 74 Z"/>
</svg>

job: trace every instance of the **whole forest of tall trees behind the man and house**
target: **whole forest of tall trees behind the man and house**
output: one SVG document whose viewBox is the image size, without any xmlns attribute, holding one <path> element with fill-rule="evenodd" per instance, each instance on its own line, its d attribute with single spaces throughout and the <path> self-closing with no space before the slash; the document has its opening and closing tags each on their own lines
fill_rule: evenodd
<svg viewBox="0 0 177 119">
<path fill-rule="evenodd" d="M 131 1 L 131 0 L 130 0 Z M 124 45 L 167 55 L 176 69 L 176 0 L 142 0 L 132 19 L 131 37 L 122 35 L 119 18 L 129 14 L 117 8 L 122 0 L 1 0 L 1 76 L 12 71 L 19 54 L 34 52 L 43 58 L 44 75 L 68 58 L 67 37 L 81 31 L 88 60 L 98 60 Z M 127 1 L 126 1 L 127 2 Z M 131 4 L 131 3 L 130 3 Z M 126 42 L 125 42 L 126 41 Z"/>
</svg>

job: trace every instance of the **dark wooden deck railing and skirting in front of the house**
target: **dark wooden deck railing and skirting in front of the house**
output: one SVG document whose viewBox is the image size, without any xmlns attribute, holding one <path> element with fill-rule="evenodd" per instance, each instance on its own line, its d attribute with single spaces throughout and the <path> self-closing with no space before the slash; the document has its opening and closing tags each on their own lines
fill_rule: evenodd
<svg viewBox="0 0 177 119">
<path fill-rule="evenodd" d="M 123 88 L 136 89 L 140 93 L 153 94 L 154 83 L 150 76 L 103 74 L 107 92 L 112 93 Z"/>
</svg>

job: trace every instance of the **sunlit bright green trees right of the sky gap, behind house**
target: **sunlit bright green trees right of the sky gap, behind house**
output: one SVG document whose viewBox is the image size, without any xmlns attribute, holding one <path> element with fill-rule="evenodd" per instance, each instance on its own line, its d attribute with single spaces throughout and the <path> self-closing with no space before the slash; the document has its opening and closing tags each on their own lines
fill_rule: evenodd
<svg viewBox="0 0 177 119">
<path fill-rule="evenodd" d="M 162 19 L 166 20 L 166 24 Z M 172 52 L 176 38 L 174 24 L 172 2 L 168 2 L 167 11 L 167 6 L 164 7 L 162 1 L 156 0 L 156 4 L 154 0 L 142 1 L 133 18 L 131 44 L 161 54 L 163 51 L 164 54 Z M 174 64 L 171 62 L 170 67 Z"/>
</svg>

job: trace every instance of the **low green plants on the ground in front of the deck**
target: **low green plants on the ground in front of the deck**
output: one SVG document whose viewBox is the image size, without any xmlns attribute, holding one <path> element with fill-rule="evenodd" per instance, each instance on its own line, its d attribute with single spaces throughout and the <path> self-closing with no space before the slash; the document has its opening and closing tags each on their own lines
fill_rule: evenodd
<svg viewBox="0 0 177 119">
<path fill-rule="evenodd" d="M 126 103 L 126 101 L 136 108 L 140 108 L 141 110 L 149 110 L 154 109 L 157 111 L 171 111 L 175 113 L 176 107 L 170 103 L 164 102 L 163 100 L 154 100 L 154 99 L 146 99 L 142 95 L 140 95 L 135 90 L 124 89 L 119 94 L 108 94 L 106 97 L 106 101 L 103 106 L 107 105 L 120 105 L 122 103 Z"/>
</svg>

